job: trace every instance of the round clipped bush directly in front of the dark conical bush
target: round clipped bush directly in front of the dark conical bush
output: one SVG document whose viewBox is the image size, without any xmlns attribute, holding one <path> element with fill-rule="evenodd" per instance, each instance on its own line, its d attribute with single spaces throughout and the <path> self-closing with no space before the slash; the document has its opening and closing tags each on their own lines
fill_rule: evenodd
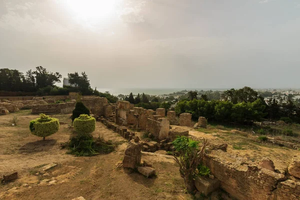
<svg viewBox="0 0 300 200">
<path fill-rule="evenodd" d="M 80 114 L 78 118 L 73 121 L 74 129 L 79 134 L 88 134 L 95 130 L 96 120 L 87 114 Z"/>
</svg>

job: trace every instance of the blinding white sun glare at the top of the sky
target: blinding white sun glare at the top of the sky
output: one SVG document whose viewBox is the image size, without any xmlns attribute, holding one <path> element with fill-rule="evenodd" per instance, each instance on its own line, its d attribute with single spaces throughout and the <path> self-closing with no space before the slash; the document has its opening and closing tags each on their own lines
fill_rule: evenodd
<svg viewBox="0 0 300 200">
<path fill-rule="evenodd" d="M 74 17 L 83 20 L 103 20 L 115 13 L 119 0 L 65 0 Z"/>
</svg>

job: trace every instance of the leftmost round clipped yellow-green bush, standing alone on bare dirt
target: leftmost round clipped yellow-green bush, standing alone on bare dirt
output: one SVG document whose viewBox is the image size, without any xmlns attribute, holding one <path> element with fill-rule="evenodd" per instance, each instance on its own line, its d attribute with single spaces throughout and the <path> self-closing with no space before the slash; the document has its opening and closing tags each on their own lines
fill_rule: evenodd
<svg viewBox="0 0 300 200">
<path fill-rule="evenodd" d="M 39 114 L 39 118 L 33 119 L 29 123 L 29 129 L 32 134 L 43 137 L 49 136 L 59 129 L 57 118 L 51 118 L 45 114 Z"/>
</svg>

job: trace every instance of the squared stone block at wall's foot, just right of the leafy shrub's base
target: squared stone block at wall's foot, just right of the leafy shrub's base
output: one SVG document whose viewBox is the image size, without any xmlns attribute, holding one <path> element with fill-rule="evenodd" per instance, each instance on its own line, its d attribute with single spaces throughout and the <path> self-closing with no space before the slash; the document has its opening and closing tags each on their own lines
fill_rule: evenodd
<svg viewBox="0 0 300 200">
<path fill-rule="evenodd" d="M 220 186 L 220 181 L 216 178 L 210 179 L 207 177 L 198 176 L 195 181 L 195 187 L 201 193 L 204 193 L 205 196 L 215 191 Z"/>
</svg>

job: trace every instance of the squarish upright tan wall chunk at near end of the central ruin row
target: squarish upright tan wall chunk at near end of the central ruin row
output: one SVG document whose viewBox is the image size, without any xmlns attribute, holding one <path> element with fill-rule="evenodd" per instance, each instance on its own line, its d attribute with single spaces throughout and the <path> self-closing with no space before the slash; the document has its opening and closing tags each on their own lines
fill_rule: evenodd
<svg viewBox="0 0 300 200">
<path fill-rule="evenodd" d="M 166 118 L 160 118 L 159 120 L 147 118 L 146 130 L 158 140 L 162 140 L 168 136 L 169 125 Z"/>
</svg>

